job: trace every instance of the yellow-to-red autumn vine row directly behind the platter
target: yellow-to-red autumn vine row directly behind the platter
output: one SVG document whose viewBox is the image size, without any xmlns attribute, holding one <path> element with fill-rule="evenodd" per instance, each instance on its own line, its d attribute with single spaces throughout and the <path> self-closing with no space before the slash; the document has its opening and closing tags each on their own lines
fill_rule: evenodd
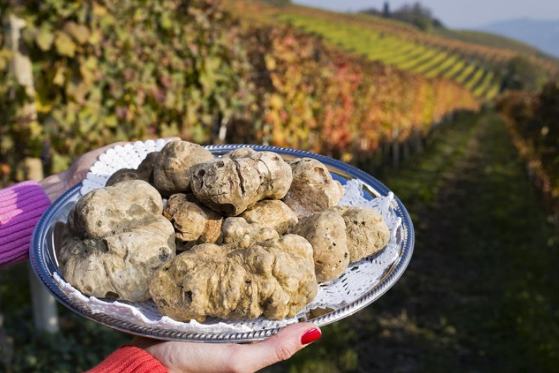
<svg viewBox="0 0 559 373">
<path fill-rule="evenodd" d="M 3 47 L 4 182 L 23 178 L 24 157 L 56 172 L 104 143 L 177 134 L 366 160 L 479 108 L 455 82 L 347 54 L 288 25 L 255 24 L 209 0 L 78 3 L 13 8 L 27 21 L 34 93 L 17 84 Z M 30 103 L 36 117 L 22 115 Z"/>
</svg>

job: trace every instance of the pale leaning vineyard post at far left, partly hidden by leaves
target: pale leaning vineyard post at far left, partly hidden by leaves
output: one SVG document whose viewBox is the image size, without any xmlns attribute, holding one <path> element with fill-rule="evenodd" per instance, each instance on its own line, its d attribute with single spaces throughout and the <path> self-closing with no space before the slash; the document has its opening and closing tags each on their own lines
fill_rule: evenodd
<svg viewBox="0 0 559 373">
<path fill-rule="evenodd" d="M 17 18 L 14 14 L 5 14 L 3 18 L 3 32 L 6 47 L 12 51 L 12 62 L 10 69 L 19 84 L 25 86 L 25 92 L 29 97 L 34 97 L 33 71 L 30 58 L 20 47 L 21 29 L 25 26 L 23 19 Z M 21 109 L 21 117 L 36 121 L 36 108 L 31 101 Z M 38 158 L 25 158 L 23 161 L 25 175 L 28 180 L 43 179 L 43 163 Z M 58 332 L 58 311 L 56 310 L 56 300 L 52 298 L 47 289 L 41 285 L 36 278 L 31 267 L 27 267 L 31 298 L 33 306 L 33 322 L 36 330 L 46 331 L 47 333 Z"/>
</svg>

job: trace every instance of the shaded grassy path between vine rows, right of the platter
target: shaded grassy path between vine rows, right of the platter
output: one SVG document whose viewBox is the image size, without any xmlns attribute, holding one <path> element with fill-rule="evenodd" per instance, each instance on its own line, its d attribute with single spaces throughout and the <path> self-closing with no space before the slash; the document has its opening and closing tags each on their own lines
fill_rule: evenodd
<svg viewBox="0 0 559 373">
<path fill-rule="evenodd" d="M 409 208 L 402 279 L 274 372 L 556 372 L 559 249 L 499 117 L 463 117 L 378 176 Z"/>
</svg>

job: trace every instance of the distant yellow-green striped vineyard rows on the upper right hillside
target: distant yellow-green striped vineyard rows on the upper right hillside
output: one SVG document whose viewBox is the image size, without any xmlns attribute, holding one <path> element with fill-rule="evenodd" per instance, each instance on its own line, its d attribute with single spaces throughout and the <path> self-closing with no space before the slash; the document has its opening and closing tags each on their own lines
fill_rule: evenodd
<svg viewBox="0 0 559 373">
<path fill-rule="evenodd" d="M 288 23 L 315 33 L 328 42 L 369 60 L 425 77 L 444 77 L 466 87 L 480 99 L 492 99 L 501 89 L 503 70 L 518 54 L 526 56 L 548 76 L 559 73 L 559 62 L 520 43 L 507 48 L 490 47 L 464 40 L 488 40 L 466 32 L 446 32 L 448 38 L 420 32 L 415 27 L 369 14 L 341 14 L 297 5 L 274 7 L 258 2 L 228 3 L 233 12 L 266 22 Z M 242 9 L 242 12 L 240 11 Z M 247 12 L 249 10 L 249 12 Z M 497 39 L 499 40 L 499 39 Z M 514 49 L 512 49 L 514 48 Z M 541 53 L 540 53 L 541 54 Z"/>
</svg>

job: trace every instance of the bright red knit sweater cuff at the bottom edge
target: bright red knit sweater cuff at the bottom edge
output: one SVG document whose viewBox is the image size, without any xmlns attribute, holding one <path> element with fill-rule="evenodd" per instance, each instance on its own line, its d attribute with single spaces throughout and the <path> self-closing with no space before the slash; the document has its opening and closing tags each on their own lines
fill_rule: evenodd
<svg viewBox="0 0 559 373">
<path fill-rule="evenodd" d="M 86 373 L 168 373 L 148 352 L 133 346 L 122 346 Z"/>
</svg>

